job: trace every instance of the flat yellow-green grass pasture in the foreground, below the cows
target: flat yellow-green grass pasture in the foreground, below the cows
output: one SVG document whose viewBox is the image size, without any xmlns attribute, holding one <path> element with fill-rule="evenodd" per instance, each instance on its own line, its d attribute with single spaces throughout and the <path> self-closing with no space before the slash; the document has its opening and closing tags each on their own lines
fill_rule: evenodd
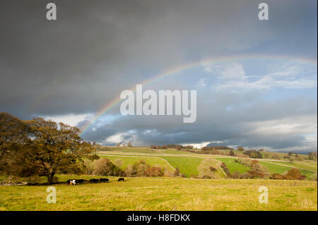
<svg viewBox="0 0 318 225">
<path fill-rule="evenodd" d="M 127 179 L 55 185 L 56 204 L 46 202 L 47 186 L 0 186 L 0 210 L 317 210 L 315 181 Z M 268 204 L 259 203 L 259 186 L 269 189 Z"/>
</svg>

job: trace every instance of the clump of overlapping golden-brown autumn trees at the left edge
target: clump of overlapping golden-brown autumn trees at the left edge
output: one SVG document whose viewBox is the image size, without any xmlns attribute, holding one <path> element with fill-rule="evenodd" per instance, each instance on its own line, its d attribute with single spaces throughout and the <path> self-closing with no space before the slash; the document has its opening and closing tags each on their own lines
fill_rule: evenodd
<svg viewBox="0 0 318 225">
<path fill-rule="evenodd" d="M 9 114 L 1 114 L 1 122 L 0 148 L 1 155 L 7 154 L 6 174 L 46 176 L 52 183 L 55 174 L 79 173 L 76 162 L 93 157 L 92 146 L 81 139 L 76 127 L 44 118 L 21 121 Z"/>
</svg>

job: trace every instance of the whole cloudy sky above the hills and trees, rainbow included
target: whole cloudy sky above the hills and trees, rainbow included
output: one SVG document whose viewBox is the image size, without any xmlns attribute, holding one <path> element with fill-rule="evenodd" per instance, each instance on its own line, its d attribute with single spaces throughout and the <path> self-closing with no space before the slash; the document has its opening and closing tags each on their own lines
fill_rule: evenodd
<svg viewBox="0 0 318 225">
<path fill-rule="evenodd" d="M 261 2 L 1 1 L 0 111 L 102 145 L 317 151 L 317 1 Z M 196 90 L 196 121 L 123 116 L 137 84 Z"/>
</svg>

